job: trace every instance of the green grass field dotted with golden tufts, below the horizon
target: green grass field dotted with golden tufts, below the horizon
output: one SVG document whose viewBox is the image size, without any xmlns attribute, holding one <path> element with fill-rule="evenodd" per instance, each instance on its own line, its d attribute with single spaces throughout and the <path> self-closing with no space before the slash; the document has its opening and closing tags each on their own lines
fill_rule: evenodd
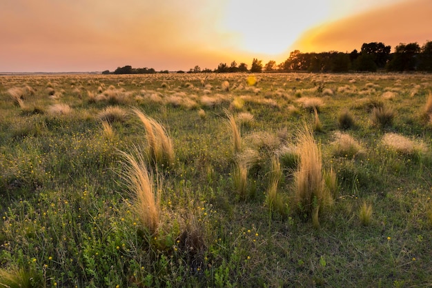
<svg viewBox="0 0 432 288">
<path fill-rule="evenodd" d="M 429 74 L 1 76 L 0 283 L 431 286 L 431 91 Z"/>
</svg>

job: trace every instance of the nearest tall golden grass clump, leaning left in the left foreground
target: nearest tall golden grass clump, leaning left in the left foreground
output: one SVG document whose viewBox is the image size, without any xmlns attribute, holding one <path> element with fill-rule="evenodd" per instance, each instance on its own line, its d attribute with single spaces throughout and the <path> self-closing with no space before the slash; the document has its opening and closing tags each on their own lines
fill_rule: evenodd
<svg viewBox="0 0 432 288">
<path fill-rule="evenodd" d="M 135 156 L 123 151 L 120 154 L 124 158 L 121 176 L 132 192 L 135 213 L 141 224 L 153 235 L 159 227 L 160 214 L 160 198 L 153 183 L 153 173 L 147 168 L 146 161 L 136 147 Z"/>
</svg>

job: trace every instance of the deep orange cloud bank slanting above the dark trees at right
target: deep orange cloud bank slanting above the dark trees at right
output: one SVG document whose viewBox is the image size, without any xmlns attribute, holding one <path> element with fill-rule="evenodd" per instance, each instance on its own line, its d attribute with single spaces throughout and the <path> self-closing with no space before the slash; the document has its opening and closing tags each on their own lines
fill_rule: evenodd
<svg viewBox="0 0 432 288">
<path fill-rule="evenodd" d="M 431 40 L 431 11 L 430 0 L 404 1 L 320 25 L 305 32 L 291 48 L 302 52 L 351 52 L 369 42 L 383 42 L 392 49 L 399 43 L 422 45 Z"/>
</svg>

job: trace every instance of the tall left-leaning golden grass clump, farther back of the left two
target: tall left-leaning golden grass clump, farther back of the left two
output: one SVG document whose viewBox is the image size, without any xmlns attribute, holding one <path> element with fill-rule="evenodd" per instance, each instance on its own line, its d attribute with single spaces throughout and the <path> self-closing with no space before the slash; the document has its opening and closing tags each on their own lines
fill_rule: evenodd
<svg viewBox="0 0 432 288">
<path fill-rule="evenodd" d="M 139 118 L 146 130 L 148 158 L 153 164 L 170 165 L 174 162 L 173 141 L 162 125 L 134 108 L 132 112 Z"/>
</svg>

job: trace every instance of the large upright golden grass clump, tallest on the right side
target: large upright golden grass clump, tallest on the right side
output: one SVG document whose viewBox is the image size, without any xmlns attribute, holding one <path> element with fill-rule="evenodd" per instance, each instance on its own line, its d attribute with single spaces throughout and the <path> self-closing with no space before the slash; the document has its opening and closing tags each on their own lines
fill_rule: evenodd
<svg viewBox="0 0 432 288">
<path fill-rule="evenodd" d="M 314 226 L 318 215 L 333 203 L 331 194 L 324 189 L 321 149 L 313 138 L 311 128 L 304 125 L 298 136 L 299 164 L 294 174 L 295 203 L 300 212 L 312 216 Z"/>
</svg>

